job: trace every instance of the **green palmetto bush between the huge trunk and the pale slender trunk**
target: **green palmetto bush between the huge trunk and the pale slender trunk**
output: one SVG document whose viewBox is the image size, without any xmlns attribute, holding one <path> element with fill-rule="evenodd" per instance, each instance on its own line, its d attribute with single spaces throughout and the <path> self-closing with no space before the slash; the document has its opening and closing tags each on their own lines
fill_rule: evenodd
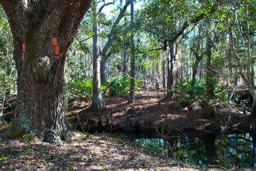
<svg viewBox="0 0 256 171">
<path fill-rule="evenodd" d="M 105 88 L 105 85 L 100 85 L 100 91 L 102 92 L 102 94 L 104 93 Z M 77 78 L 69 83 L 69 98 L 91 100 L 92 90 L 92 80 L 85 78 Z"/>
</svg>

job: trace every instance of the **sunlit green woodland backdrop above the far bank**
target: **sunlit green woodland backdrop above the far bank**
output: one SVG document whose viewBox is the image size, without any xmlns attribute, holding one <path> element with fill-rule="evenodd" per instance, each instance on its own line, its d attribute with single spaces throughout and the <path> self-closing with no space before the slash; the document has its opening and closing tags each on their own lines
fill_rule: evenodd
<svg viewBox="0 0 256 171">
<path fill-rule="evenodd" d="M 128 96 L 134 78 L 131 86 L 135 80 L 137 90 L 164 91 L 169 98 L 178 92 L 179 98 L 201 105 L 231 105 L 233 97 L 225 92 L 240 87 L 255 99 L 254 2 L 135 2 L 133 21 L 130 3 L 98 2 L 86 13 L 65 61 L 66 101 L 84 98 L 96 103 L 94 111 L 103 108 L 92 88 L 98 67 L 100 80 L 94 80 L 94 87 L 99 89 L 101 81 L 102 95 Z M 96 54 L 93 36 L 98 39 Z M 17 91 L 12 41 L 1 8 L 2 104 Z M 100 64 L 93 67 L 97 58 Z"/>
</svg>

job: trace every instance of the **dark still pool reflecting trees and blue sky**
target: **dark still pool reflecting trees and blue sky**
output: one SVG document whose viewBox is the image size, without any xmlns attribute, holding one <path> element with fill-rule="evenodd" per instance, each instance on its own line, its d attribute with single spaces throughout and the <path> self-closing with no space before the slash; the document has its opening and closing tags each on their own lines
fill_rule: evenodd
<svg viewBox="0 0 256 171">
<path fill-rule="evenodd" d="M 176 159 L 183 162 L 203 167 L 256 167 L 256 134 L 207 134 L 198 138 L 170 138 L 167 141 Z M 143 147 L 156 149 L 159 153 L 168 154 L 163 139 L 136 139 L 134 142 Z"/>
</svg>

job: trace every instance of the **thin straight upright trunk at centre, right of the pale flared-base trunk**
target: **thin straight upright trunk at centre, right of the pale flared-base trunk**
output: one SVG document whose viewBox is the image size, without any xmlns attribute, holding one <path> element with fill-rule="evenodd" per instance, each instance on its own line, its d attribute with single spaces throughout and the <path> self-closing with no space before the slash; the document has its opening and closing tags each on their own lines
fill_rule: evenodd
<svg viewBox="0 0 256 171">
<path fill-rule="evenodd" d="M 134 23 L 134 0 L 131 0 L 131 25 Z M 134 102 L 134 91 L 135 91 L 135 39 L 134 33 L 131 35 L 131 78 L 130 78 L 130 99 L 129 102 Z"/>
</svg>

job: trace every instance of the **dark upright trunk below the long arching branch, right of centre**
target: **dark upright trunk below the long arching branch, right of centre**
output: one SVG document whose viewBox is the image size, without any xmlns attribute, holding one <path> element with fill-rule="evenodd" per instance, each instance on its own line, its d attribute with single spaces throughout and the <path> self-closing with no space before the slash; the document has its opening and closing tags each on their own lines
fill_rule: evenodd
<svg viewBox="0 0 256 171">
<path fill-rule="evenodd" d="M 174 82 L 174 73 L 173 73 L 173 66 L 174 66 L 174 42 L 169 42 L 170 48 L 170 64 L 168 75 L 167 75 L 167 98 L 171 98 L 173 93 L 173 82 Z"/>
</svg>

